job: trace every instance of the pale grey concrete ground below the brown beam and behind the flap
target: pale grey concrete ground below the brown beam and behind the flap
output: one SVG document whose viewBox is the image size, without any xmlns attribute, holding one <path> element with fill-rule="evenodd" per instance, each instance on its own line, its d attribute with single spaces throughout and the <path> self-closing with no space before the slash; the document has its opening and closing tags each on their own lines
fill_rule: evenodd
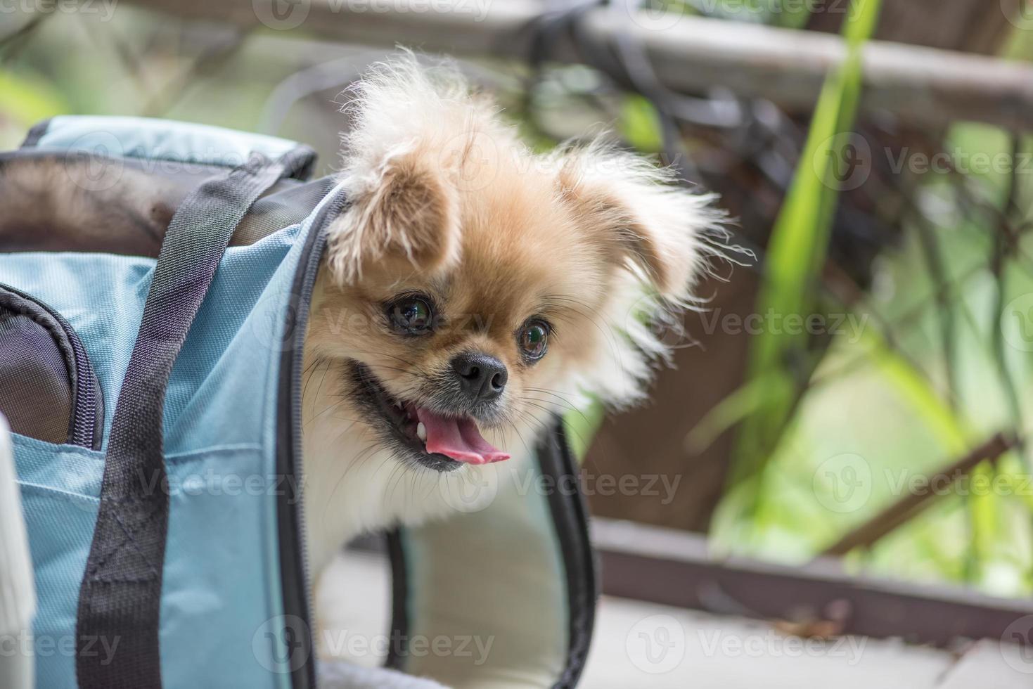
<svg viewBox="0 0 1033 689">
<path fill-rule="evenodd" d="M 325 630 L 369 636 L 387 627 L 388 567 L 349 552 L 324 575 Z M 363 595 L 355 596 L 356 591 Z M 340 592 L 349 602 L 335 604 Z M 356 606 L 356 600 L 361 604 Z M 342 616 L 342 612 L 347 612 Z M 347 653 L 339 655 L 347 657 Z M 348 658 L 380 664 L 382 655 Z M 984 640 L 962 652 L 895 640 L 784 636 L 763 622 L 603 596 L 582 680 L 587 689 L 1031 689 L 1033 652 Z"/>
</svg>

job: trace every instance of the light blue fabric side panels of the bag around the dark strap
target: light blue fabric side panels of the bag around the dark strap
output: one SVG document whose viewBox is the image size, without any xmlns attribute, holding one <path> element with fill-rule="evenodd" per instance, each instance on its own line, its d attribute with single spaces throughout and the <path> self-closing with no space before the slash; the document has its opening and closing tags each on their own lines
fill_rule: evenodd
<svg viewBox="0 0 1033 689">
<path fill-rule="evenodd" d="M 275 492 L 283 332 L 308 219 L 230 247 L 173 370 L 165 401 L 168 540 L 160 613 L 167 687 L 289 686 L 267 634 L 283 621 Z M 80 334 L 104 397 L 118 398 L 155 261 L 111 254 L 17 253 L 0 282 L 58 310 Z M 108 404 L 105 430 L 114 404 Z M 105 438 L 106 438 L 105 432 Z M 15 436 L 39 595 L 40 687 L 75 687 L 74 630 L 103 473 L 102 451 Z M 166 487 L 155 487 L 166 490 Z M 242 569 L 242 563 L 264 563 Z M 226 586 L 226 580 L 232 585 Z M 106 641 L 108 648 L 101 641 Z M 96 651 L 109 653 L 113 639 Z M 232 658 L 231 663 L 226 659 Z M 250 661 L 250 662 L 248 662 Z M 271 671 L 273 670 L 273 671 Z"/>
</svg>

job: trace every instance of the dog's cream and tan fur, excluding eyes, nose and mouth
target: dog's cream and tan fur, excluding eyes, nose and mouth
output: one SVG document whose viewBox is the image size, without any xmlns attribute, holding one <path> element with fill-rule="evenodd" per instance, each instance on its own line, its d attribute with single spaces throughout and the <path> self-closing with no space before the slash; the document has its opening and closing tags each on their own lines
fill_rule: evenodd
<svg viewBox="0 0 1033 689">
<path fill-rule="evenodd" d="M 452 69 L 405 54 L 349 95 L 341 176 L 352 206 L 330 229 L 306 346 L 313 573 L 358 533 L 447 518 L 470 483 L 509 480 L 554 414 L 593 399 L 640 400 L 667 354 L 644 322 L 691 306 L 695 278 L 720 254 L 722 216 L 710 197 L 602 143 L 535 155 Z M 400 342 L 378 326 L 377 304 L 413 285 L 493 320 L 453 324 L 433 344 Z M 525 367 L 510 334 L 541 310 L 557 321 L 555 342 Z M 340 326 L 350 316 L 359 325 Z M 361 361 L 393 395 L 418 398 L 422 372 L 463 347 L 509 368 L 511 422 L 481 431 L 512 459 L 446 473 L 403 464 L 349 403 L 342 363 Z"/>
</svg>

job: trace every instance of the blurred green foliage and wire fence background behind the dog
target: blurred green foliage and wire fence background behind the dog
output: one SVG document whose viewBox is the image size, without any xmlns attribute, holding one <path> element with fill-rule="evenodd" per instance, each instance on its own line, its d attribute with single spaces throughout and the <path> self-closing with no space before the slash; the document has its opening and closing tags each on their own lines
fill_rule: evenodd
<svg viewBox="0 0 1033 689">
<path fill-rule="evenodd" d="M 0 146 L 143 115 L 304 142 L 331 174 L 369 63 L 451 55 L 535 148 L 609 129 L 735 219 L 739 264 L 658 325 L 652 401 L 567 419 L 594 514 L 722 557 L 1033 592 L 1033 7 L 409 4 L 0 4 Z"/>
</svg>

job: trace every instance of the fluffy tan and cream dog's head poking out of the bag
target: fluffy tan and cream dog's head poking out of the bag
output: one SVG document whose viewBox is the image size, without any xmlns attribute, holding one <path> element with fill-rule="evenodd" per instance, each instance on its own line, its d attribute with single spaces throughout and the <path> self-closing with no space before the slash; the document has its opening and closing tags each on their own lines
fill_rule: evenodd
<svg viewBox="0 0 1033 689">
<path fill-rule="evenodd" d="M 586 395 L 640 395 L 684 304 L 709 199 L 600 145 L 536 155 L 450 70 L 406 58 L 351 91 L 343 181 L 310 346 L 348 418 L 404 462 L 487 464 Z M 501 440 L 500 440 L 501 439 Z M 508 439 L 508 440 L 506 440 Z"/>
</svg>

